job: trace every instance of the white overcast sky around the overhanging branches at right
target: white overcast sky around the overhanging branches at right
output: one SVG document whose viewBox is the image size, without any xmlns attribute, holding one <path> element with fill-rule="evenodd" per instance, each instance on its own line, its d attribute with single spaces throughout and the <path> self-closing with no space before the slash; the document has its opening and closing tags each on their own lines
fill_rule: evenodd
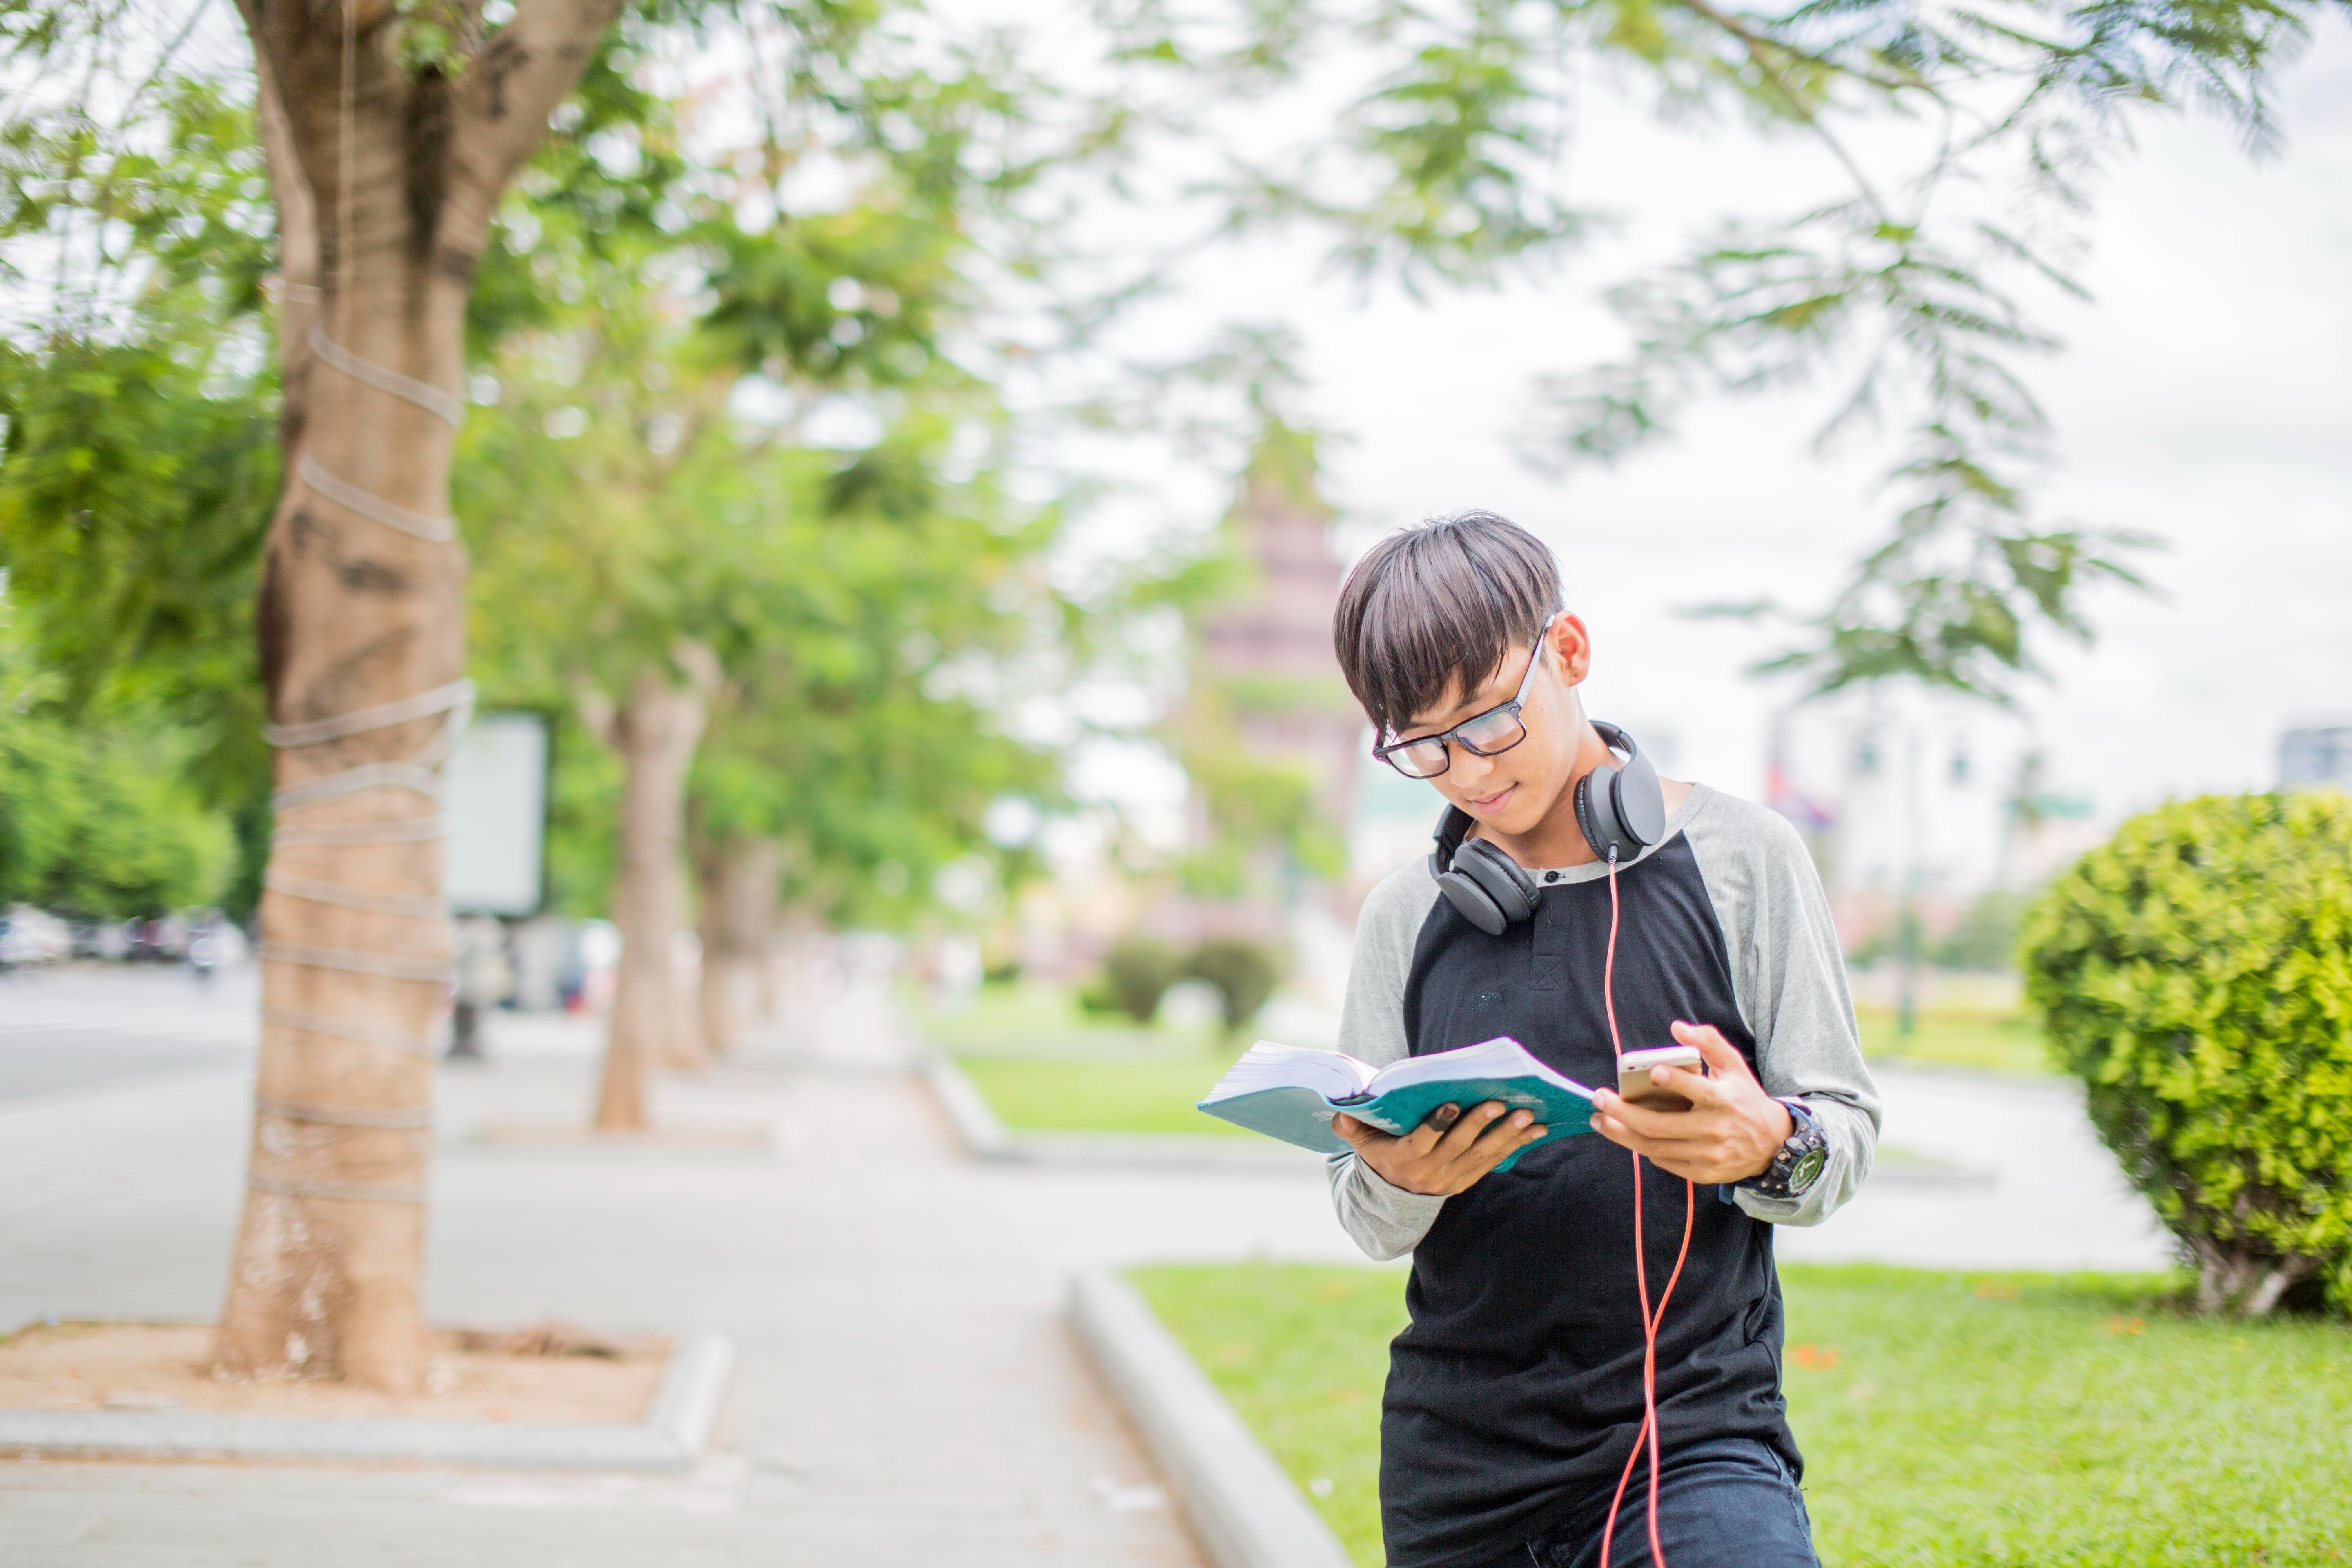
<svg viewBox="0 0 2352 1568">
<path fill-rule="evenodd" d="M 2286 150 L 2249 162 L 2211 120 L 2143 122 L 2103 181 L 2079 266 L 2096 303 L 2051 301 L 2067 350 L 2032 367 L 2063 468 L 2044 517 L 2157 534 L 2164 597 L 2107 590 L 2091 651 L 2046 644 L 2027 691 L 2053 783 L 2112 820 L 2166 795 L 2265 788 L 2281 724 L 2352 712 L 2352 42 L 2328 26 L 2284 82 Z M 1740 127 L 1663 129 L 1583 108 L 1573 195 L 1621 235 L 1543 287 L 1418 306 L 1319 277 L 1312 237 L 1223 252 L 1145 336 L 1200 343 L 1218 317 L 1287 322 L 1305 407 L 1345 437 L 1329 489 L 1359 527 L 1491 505 L 1543 534 L 1595 630 L 1590 710 L 1670 731 L 1677 771 L 1757 795 L 1776 693 L 1740 675 L 1743 625 L 1677 607 L 1771 595 L 1813 607 L 1882 538 L 1886 451 L 1816 461 L 1816 397 L 1710 402 L 1677 442 L 1562 484 L 1508 435 L 1531 378 L 1606 357 L 1599 289 L 1715 219 L 1778 214 L 1825 186 L 1802 146 Z M 1148 475 L 1152 517 L 1214 517 L 1228 477 Z M 1131 524 L 1143 512 L 1129 512 Z M 2006 722 L 2004 722 L 2006 724 Z M 2023 743 L 2025 731 L 2013 731 Z M 1134 750 L 1096 757 L 1094 790 L 1167 799 Z"/>
</svg>

